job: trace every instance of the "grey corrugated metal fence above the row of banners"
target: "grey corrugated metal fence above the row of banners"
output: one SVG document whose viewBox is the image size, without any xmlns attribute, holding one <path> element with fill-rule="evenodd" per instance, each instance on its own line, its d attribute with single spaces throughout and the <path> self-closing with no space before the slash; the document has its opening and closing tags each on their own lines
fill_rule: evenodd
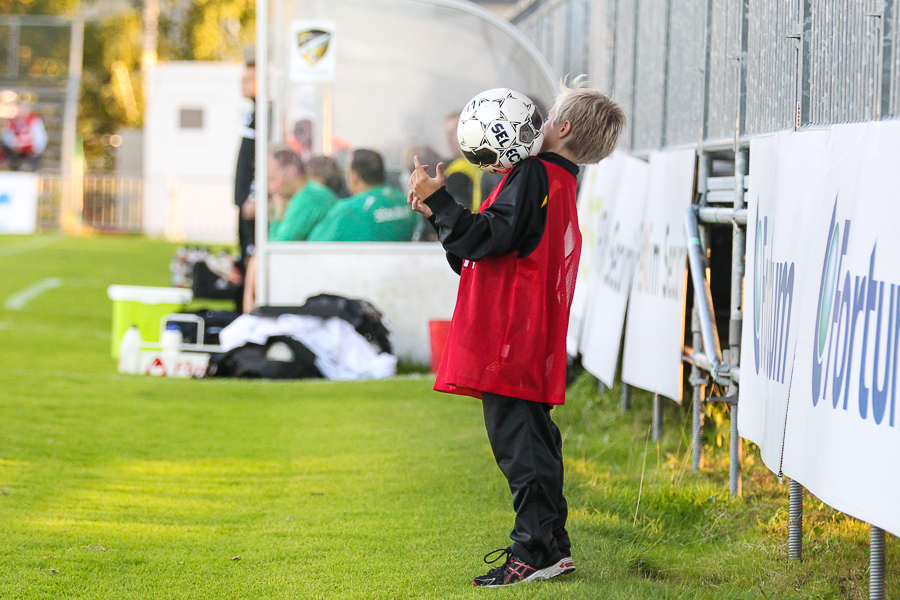
<svg viewBox="0 0 900 600">
<path fill-rule="evenodd" d="M 513 22 L 603 82 L 638 153 L 900 115 L 897 0 L 535 1 Z"/>
</svg>

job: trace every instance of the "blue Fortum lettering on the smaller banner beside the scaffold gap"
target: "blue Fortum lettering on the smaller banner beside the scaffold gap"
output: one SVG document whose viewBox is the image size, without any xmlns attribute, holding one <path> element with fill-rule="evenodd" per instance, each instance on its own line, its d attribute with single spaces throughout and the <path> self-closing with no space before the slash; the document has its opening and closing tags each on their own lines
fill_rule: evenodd
<svg viewBox="0 0 900 600">
<path fill-rule="evenodd" d="M 753 257 L 753 358 L 757 375 L 784 383 L 794 306 L 794 263 L 774 261 L 770 239 L 769 217 L 760 221 L 757 214 Z"/>
</svg>

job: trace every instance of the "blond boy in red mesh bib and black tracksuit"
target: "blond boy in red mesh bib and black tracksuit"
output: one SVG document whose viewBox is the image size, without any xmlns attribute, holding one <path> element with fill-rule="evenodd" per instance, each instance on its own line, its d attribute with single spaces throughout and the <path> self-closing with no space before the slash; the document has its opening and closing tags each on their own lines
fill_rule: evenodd
<svg viewBox="0 0 900 600">
<path fill-rule="evenodd" d="M 566 328 L 581 252 L 578 164 L 616 147 L 625 115 L 608 97 L 561 86 L 542 152 L 518 163 L 478 213 L 429 177 L 416 159 L 407 201 L 438 232 L 459 294 L 434 389 L 481 398 L 497 465 L 516 513 L 505 562 L 476 577 L 497 587 L 575 570 L 566 532 L 562 438 L 550 418 L 565 402 Z M 493 560 L 489 557 L 495 555 Z"/>
</svg>

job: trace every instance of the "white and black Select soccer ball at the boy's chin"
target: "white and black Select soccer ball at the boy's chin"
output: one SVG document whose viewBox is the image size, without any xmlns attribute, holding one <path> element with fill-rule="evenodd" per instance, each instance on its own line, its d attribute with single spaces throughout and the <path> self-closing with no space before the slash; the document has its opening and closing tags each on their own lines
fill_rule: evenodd
<svg viewBox="0 0 900 600">
<path fill-rule="evenodd" d="M 544 118 L 534 102 L 507 88 L 481 92 L 459 115 L 456 137 L 463 156 L 482 171 L 507 173 L 541 151 Z"/>
</svg>

